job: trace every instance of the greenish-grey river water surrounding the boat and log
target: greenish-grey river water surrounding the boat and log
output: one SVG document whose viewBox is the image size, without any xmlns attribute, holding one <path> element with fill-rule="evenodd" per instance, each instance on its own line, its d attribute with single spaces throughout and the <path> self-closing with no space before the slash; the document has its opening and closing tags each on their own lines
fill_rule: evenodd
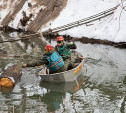
<svg viewBox="0 0 126 113">
<path fill-rule="evenodd" d="M 23 34 L 0 32 L 0 41 Z M 55 45 L 55 40 L 50 43 Z M 9 65 L 37 60 L 44 53 L 46 40 L 0 43 L 0 70 Z M 0 113 L 125 113 L 126 50 L 112 46 L 76 42 L 85 57 L 83 73 L 69 83 L 42 82 L 41 67 L 22 69 L 14 88 L 0 89 Z M 77 87 L 79 84 L 79 87 Z"/>
</svg>

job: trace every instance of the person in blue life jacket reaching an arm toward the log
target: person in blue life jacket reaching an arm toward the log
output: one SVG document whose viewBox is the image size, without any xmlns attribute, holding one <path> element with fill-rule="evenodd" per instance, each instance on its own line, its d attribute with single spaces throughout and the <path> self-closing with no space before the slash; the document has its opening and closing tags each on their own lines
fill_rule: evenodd
<svg viewBox="0 0 126 113">
<path fill-rule="evenodd" d="M 32 63 L 23 64 L 22 67 L 34 67 L 45 64 L 49 73 L 58 73 L 64 71 L 64 61 L 63 58 L 55 51 L 52 45 L 46 45 L 45 54 L 43 58 Z"/>
</svg>

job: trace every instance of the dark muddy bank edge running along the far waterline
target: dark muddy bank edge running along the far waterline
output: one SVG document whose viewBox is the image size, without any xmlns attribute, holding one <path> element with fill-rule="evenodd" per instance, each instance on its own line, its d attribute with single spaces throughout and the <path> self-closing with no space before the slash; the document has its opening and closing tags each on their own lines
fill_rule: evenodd
<svg viewBox="0 0 126 113">
<path fill-rule="evenodd" d="M 34 36 L 37 36 L 40 35 L 40 33 L 35 33 L 35 32 L 31 32 L 31 31 L 23 31 L 22 29 L 14 29 L 14 28 L 11 28 L 11 27 L 0 27 L 0 31 L 3 31 L 3 32 L 23 32 L 24 34 L 26 34 L 26 36 L 30 36 L 30 35 L 34 35 Z M 27 35 L 28 34 L 28 35 Z M 57 37 L 59 36 L 58 33 L 50 33 L 50 32 L 45 32 L 43 33 L 43 37 L 46 38 L 46 40 L 50 40 L 50 39 L 56 39 Z M 94 38 L 89 38 L 89 37 L 81 37 L 81 38 L 78 38 L 78 37 L 71 37 L 69 35 L 63 35 L 65 41 L 79 41 L 83 44 L 87 44 L 87 43 L 90 43 L 90 44 L 102 44 L 102 45 L 109 45 L 109 46 L 113 46 L 113 47 L 116 47 L 116 48 L 122 48 L 122 49 L 125 49 L 126 48 L 126 42 L 112 42 L 112 41 L 109 41 L 109 40 L 101 40 L 101 39 L 94 39 Z M 24 38 L 27 38 L 27 37 L 23 37 Z M 3 41 L 4 43 L 4 41 Z"/>
</svg>

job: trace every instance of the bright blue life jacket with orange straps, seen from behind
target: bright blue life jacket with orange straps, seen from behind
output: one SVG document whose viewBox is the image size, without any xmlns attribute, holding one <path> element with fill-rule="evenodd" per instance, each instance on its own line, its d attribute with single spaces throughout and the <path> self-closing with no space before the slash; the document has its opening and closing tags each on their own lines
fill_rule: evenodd
<svg viewBox="0 0 126 113">
<path fill-rule="evenodd" d="M 45 57 L 49 61 L 49 64 L 46 66 L 51 72 L 57 71 L 59 68 L 61 68 L 64 65 L 64 61 L 62 57 L 56 51 L 54 51 L 52 54 Z"/>
</svg>

